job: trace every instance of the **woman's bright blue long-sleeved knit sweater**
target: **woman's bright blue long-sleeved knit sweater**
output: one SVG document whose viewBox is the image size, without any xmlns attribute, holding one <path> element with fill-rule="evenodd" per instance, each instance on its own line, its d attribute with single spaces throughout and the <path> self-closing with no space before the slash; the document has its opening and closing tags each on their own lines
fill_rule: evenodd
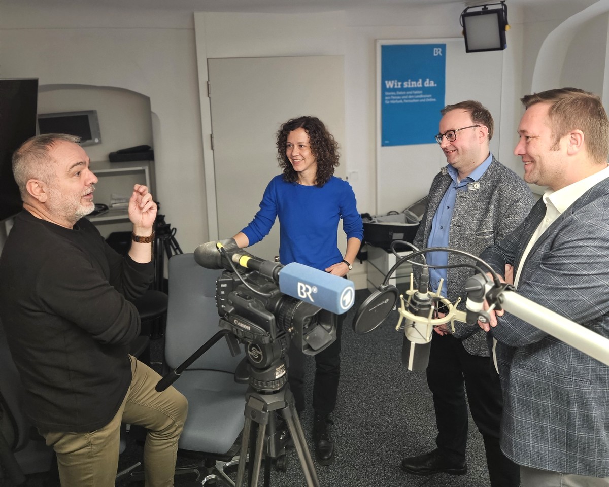
<svg viewBox="0 0 609 487">
<path fill-rule="evenodd" d="M 339 220 L 347 239 L 364 237 L 351 185 L 331 177 L 322 187 L 286 183 L 275 176 L 264 191 L 260 209 L 241 231 L 250 245 L 269 234 L 275 217 L 280 223 L 281 264 L 298 262 L 319 270 L 342 261 L 337 244 Z"/>
</svg>

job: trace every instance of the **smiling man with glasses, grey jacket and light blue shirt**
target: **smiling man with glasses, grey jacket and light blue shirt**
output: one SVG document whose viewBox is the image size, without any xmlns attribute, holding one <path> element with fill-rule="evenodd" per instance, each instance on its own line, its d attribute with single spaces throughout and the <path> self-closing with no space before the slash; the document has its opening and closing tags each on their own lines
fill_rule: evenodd
<svg viewBox="0 0 609 487">
<path fill-rule="evenodd" d="M 528 214 L 533 197 L 527 184 L 490 152 L 493 117 L 481 103 L 468 100 L 447 105 L 441 113 L 440 133 L 435 139 L 448 164 L 431 184 L 414 244 L 418 248 L 458 248 L 478 255 L 512 233 Z M 443 279 L 442 295 L 451 302 L 465 297 L 465 282 L 474 271 L 440 266 L 470 259 L 446 252 L 428 253 L 426 259 L 432 291 L 437 292 Z M 417 273 L 420 267 L 415 266 Z M 477 324 L 460 322 L 455 323 L 454 333 L 446 325 L 435 328 L 427 380 L 438 427 L 437 448 L 404 458 L 402 469 L 415 475 L 467 472 L 468 401 L 484 440 L 491 486 L 515 487 L 520 483 L 519 468 L 499 447 L 503 406 L 499 376 L 479 329 Z"/>
</svg>

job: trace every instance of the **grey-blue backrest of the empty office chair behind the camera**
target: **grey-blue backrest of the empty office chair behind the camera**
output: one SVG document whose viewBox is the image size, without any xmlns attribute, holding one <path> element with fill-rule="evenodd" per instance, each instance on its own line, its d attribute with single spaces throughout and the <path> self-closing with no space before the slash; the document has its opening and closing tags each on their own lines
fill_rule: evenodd
<svg viewBox="0 0 609 487">
<path fill-rule="evenodd" d="M 168 261 L 169 303 L 165 331 L 165 362 L 174 369 L 220 331 L 216 279 L 222 270 L 201 267 L 194 254 L 176 254 Z M 244 354 L 232 357 L 224 338 L 189 369 L 234 372 Z"/>
</svg>

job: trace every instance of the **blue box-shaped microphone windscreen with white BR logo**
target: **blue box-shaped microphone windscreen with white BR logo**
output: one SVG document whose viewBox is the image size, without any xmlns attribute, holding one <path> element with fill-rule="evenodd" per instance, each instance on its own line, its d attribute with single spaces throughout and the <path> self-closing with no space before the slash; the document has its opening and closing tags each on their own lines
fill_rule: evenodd
<svg viewBox="0 0 609 487">
<path fill-rule="evenodd" d="M 279 290 L 336 314 L 346 312 L 355 301 L 353 281 L 298 262 L 284 265 L 280 270 Z"/>
</svg>

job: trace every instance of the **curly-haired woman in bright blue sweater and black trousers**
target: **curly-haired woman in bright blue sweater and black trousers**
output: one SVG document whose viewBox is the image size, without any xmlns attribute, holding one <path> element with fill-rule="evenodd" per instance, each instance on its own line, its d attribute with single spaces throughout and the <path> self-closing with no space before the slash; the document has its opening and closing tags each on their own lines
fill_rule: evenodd
<svg viewBox="0 0 609 487">
<path fill-rule="evenodd" d="M 277 159 L 283 174 L 264 191 L 260 210 L 234 236 L 239 247 L 254 245 L 279 217 L 281 264 L 300 264 L 346 276 L 364 236 L 355 195 L 347 181 L 335 177 L 339 165 L 337 142 L 316 117 L 303 116 L 283 124 L 277 133 Z M 347 235 L 343 256 L 337 244 L 339 220 Z M 338 315 L 336 341 L 315 355 L 313 386 L 313 440 L 315 457 L 322 465 L 334 461 L 334 442 L 328 418 L 336 405 L 340 377 L 340 331 L 345 315 Z M 289 350 L 288 380 L 296 409 L 305 410 L 305 356 L 294 344 Z"/>
</svg>

